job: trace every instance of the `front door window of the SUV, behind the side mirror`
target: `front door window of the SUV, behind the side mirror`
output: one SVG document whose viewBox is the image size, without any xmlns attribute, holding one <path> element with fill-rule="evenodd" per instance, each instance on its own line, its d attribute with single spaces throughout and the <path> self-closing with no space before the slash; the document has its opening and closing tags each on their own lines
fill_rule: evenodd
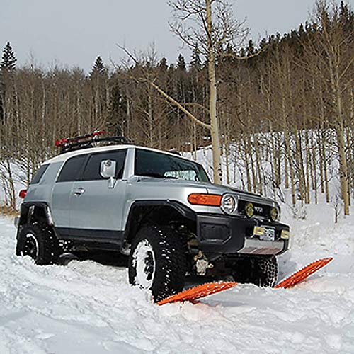
<svg viewBox="0 0 354 354">
<path fill-rule="evenodd" d="M 82 179 L 84 181 L 96 181 L 104 179 L 100 174 L 101 162 L 103 160 L 116 161 L 117 168 L 115 170 L 115 178 L 122 179 L 126 154 L 127 150 L 117 150 L 115 152 L 105 152 L 91 155 L 89 162 L 86 164 L 84 176 Z"/>
</svg>

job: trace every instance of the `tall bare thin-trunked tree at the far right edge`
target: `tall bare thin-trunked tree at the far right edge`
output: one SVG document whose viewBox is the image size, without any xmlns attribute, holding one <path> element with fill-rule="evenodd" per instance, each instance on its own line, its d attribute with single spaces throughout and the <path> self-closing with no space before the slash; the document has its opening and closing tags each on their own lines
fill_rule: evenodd
<svg viewBox="0 0 354 354">
<path fill-rule="evenodd" d="M 348 25 L 348 21 L 351 25 Z M 350 20 L 346 6 L 316 2 L 313 25 L 318 30 L 309 33 L 307 42 L 307 70 L 319 78 L 326 88 L 331 120 L 329 126 L 336 132 L 339 175 L 344 215 L 349 215 L 350 191 L 348 176 L 348 148 L 346 132 L 350 125 L 345 96 L 353 87 L 353 17 Z M 316 57 L 316 61 L 312 58 Z"/>
</svg>

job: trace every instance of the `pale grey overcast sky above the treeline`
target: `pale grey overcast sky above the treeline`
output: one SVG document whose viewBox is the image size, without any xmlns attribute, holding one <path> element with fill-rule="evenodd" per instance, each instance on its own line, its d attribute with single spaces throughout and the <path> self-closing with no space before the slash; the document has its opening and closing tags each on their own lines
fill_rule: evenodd
<svg viewBox="0 0 354 354">
<path fill-rule="evenodd" d="M 160 57 L 176 62 L 190 52 L 169 31 L 167 0 L 0 0 L 0 48 L 10 41 L 18 64 L 35 62 L 90 70 L 98 55 L 105 64 L 154 43 Z M 288 32 L 309 18 L 314 0 L 230 0 L 237 19 L 255 40 Z M 354 0 L 347 0 L 354 7 Z"/>
</svg>

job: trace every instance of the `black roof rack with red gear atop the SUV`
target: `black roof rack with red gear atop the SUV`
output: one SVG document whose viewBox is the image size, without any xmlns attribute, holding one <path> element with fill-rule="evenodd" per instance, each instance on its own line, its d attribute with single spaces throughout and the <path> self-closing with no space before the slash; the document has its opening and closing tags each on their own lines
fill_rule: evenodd
<svg viewBox="0 0 354 354">
<path fill-rule="evenodd" d="M 96 131 L 90 134 L 81 135 L 79 137 L 59 139 L 55 141 L 55 146 L 60 148 L 59 154 L 64 154 L 65 152 L 72 152 L 79 149 L 87 149 L 90 147 L 94 147 L 94 144 L 98 142 L 108 142 L 113 144 L 131 144 L 131 142 L 125 137 L 98 138 L 98 135 L 102 134 L 105 134 L 105 132 Z"/>
</svg>

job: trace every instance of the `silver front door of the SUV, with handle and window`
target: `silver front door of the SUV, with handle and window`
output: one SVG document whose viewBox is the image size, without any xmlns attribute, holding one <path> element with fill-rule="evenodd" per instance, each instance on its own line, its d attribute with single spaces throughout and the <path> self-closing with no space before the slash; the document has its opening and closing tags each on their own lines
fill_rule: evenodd
<svg viewBox="0 0 354 354">
<path fill-rule="evenodd" d="M 70 197 L 70 227 L 77 236 L 110 239 L 122 230 L 125 181 L 122 181 L 126 149 L 90 154 L 81 181 L 74 182 Z M 115 161 L 115 178 L 101 176 L 101 162 Z"/>
</svg>

